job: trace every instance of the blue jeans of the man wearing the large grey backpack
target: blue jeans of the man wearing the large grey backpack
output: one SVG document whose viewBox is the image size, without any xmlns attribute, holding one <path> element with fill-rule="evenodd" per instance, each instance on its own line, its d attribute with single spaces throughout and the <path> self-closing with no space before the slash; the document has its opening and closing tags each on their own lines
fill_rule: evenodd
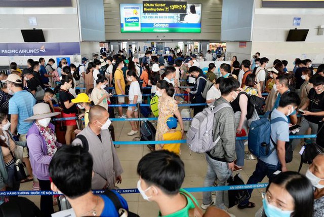
<svg viewBox="0 0 324 217">
<path fill-rule="evenodd" d="M 212 159 L 206 154 L 207 174 L 205 178 L 205 187 L 213 186 L 215 180 L 218 180 L 218 186 L 225 186 L 227 179 L 232 175 L 232 171 L 228 169 L 226 162 Z M 203 204 L 212 202 L 211 192 L 203 192 Z M 224 205 L 224 191 L 219 191 L 216 194 L 216 206 L 226 210 Z"/>
</svg>

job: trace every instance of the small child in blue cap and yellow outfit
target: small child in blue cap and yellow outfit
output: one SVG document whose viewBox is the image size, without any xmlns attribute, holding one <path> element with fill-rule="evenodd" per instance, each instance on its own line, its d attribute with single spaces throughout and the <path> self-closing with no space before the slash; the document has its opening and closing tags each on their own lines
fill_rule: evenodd
<svg viewBox="0 0 324 217">
<path fill-rule="evenodd" d="M 163 134 L 163 140 L 180 140 L 182 138 L 182 133 L 176 130 L 178 126 L 177 119 L 172 116 L 169 117 L 167 119 L 167 125 L 170 131 Z M 161 144 L 161 148 L 180 155 L 180 144 L 181 143 Z"/>
</svg>

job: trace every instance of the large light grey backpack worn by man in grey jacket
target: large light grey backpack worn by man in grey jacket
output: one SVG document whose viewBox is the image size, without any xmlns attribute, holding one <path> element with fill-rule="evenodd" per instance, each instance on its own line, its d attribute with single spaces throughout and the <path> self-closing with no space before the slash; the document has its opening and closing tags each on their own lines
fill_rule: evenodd
<svg viewBox="0 0 324 217">
<path fill-rule="evenodd" d="M 222 103 L 217 107 L 210 105 L 192 119 L 187 132 L 187 144 L 191 151 L 205 153 L 211 151 L 216 146 L 220 136 L 215 141 L 213 140 L 214 115 L 224 107 L 231 108 L 227 103 Z"/>
</svg>

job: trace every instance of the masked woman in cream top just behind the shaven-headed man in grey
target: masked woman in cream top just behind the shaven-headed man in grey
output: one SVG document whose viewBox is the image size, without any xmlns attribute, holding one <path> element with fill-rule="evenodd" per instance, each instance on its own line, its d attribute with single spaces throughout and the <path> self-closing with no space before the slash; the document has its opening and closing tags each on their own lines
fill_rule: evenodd
<svg viewBox="0 0 324 217">
<path fill-rule="evenodd" d="M 109 95 L 107 91 L 104 89 L 107 87 L 108 79 L 102 75 L 98 75 L 96 80 L 97 86 L 91 92 L 91 99 L 95 103 L 95 105 L 101 105 L 106 108 L 108 111 L 108 98 Z"/>
</svg>

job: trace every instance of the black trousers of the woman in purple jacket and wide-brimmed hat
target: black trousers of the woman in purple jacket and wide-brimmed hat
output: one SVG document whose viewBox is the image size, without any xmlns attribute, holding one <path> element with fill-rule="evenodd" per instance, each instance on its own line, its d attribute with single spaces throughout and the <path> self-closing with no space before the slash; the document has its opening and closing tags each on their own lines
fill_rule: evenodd
<svg viewBox="0 0 324 217">
<path fill-rule="evenodd" d="M 50 180 L 41 180 L 38 179 L 39 187 L 41 188 L 41 191 L 51 191 L 51 182 Z M 54 213 L 53 208 L 53 196 L 49 195 L 42 195 L 41 196 L 41 211 L 43 213 L 43 216 L 45 217 L 51 217 L 52 213 Z"/>
</svg>

